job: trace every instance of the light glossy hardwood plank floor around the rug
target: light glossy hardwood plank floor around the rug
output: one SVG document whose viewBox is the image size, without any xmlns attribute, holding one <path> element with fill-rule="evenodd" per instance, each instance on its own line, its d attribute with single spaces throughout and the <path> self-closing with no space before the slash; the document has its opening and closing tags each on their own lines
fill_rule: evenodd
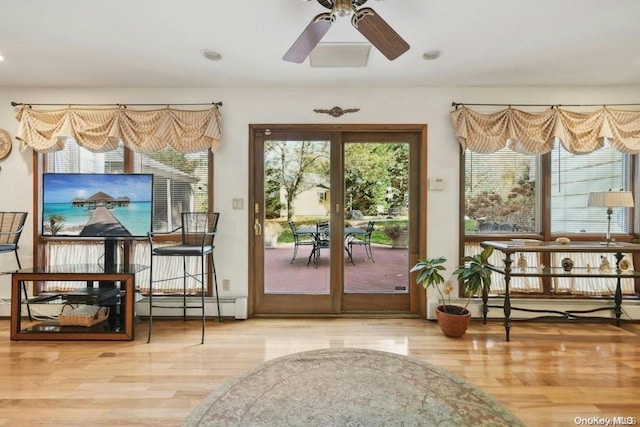
<svg viewBox="0 0 640 427">
<path fill-rule="evenodd" d="M 482 387 L 529 426 L 640 419 L 640 324 L 472 321 L 461 339 L 416 319 L 312 318 L 147 323 L 133 342 L 10 341 L 0 320 L 0 425 L 177 426 L 212 390 L 286 354 L 359 347 L 409 355 Z M 586 425 L 586 423 L 584 424 Z"/>
</svg>

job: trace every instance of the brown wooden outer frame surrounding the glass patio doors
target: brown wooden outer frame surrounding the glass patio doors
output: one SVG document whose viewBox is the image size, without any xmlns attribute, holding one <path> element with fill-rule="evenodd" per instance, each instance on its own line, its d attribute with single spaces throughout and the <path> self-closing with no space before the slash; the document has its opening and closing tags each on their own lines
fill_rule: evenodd
<svg viewBox="0 0 640 427">
<path fill-rule="evenodd" d="M 271 132 L 277 131 L 290 131 L 290 132 L 317 132 L 319 134 L 342 134 L 342 133 L 418 133 L 419 134 L 419 172 L 411 179 L 417 179 L 418 185 L 414 186 L 415 190 L 412 192 L 412 196 L 415 198 L 412 203 L 417 204 L 418 218 L 415 218 L 414 226 L 415 230 L 412 235 L 412 239 L 415 244 L 409 247 L 409 265 L 413 265 L 419 258 L 426 256 L 426 242 L 427 242 L 427 125 L 426 124 L 342 124 L 342 125 L 327 125 L 327 124 L 249 124 L 249 196 L 248 196 L 248 317 L 254 317 L 257 314 L 256 308 L 258 304 L 264 304 L 264 301 L 260 301 L 260 290 L 258 286 L 264 277 L 259 277 L 259 272 L 264 271 L 264 266 L 257 266 L 256 260 L 259 259 L 257 251 L 263 250 L 263 245 L 256 244 L 258 239 L 255 238 L 254 226 L 258 219 L 258 224 L 262 224 L 262 206 L 260 210 L 256 211 L 257 200 L 256 197 L 256 185 L 255 176 L 257 173 L 263 173 L 262 165 L 263 159 L 258 158 L 256 153 L 256 135 L 269 136 Z M 258 170 L 259 169 L 259 170 Z M 332 176 L 336 172 L 332 170 Z M 416 178 L 417 177 L 417 178 Z M 337 200 L 342 200 L 341 194 L 336 194 Z M 262 198 L 260 197 L 260 200 Z M 336 272 L 338 274 L 340 272 Z M 336 286 L 337 281 L 333 280 L 333 286 Z M 420 318 L 426 318 L 426 292 L 419 288 L 415 283 L 415 273 L 409 278 L 410 289 L 410 313 L 418 315 Z M 332 289 L 333 291 L 333 289 Z M 280 295 L 282 301 L 286 302 L 287 295 Z M 296 296 L 298 297 L 298 296 Z M 317 296 L 315 296 L 317 298 Z M 327 299 L 331 298 L 331 295 L 327 295 Z M 321 304 L 322 306 L 330 307 L 330 301 L 326 301 Z M 310 307 L 307 307 L 310 308 Z M 333 307 L 331 315 L 340 315 L 335 313 L 335 307 Z M 312 311 L 312 310 L 311 310 Z M 323 310 L 319 310 L 318 314 L 324 314 Z"/>
</svg>

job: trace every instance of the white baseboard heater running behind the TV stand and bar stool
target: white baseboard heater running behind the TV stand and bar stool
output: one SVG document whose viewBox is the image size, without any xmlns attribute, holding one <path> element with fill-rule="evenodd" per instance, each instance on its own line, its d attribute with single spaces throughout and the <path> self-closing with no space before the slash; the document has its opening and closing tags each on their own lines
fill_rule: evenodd
<svg viewBox="0 0 640 427">
<path fill-rule="evenodd" d="M 171 297 L 170 300 L 165 300 L 165 302 L 169 305 L 171 304 L 179 304 L 182 301 L 179 297 Z M 199 299 L 198 299 L 199 302 Z M 195 302 L 194 302 L 195 303 Z M 247 318 L 247 297 L 225 297 L 220 298 L 220 312 L 223 317 L 233 317 L 235 319 L 244 320 Z M 32 312 L 34 314 L 42 315 L 42 316 L 55 316 L 60 312 L 60 305 L 47 305 L 47 304 L 32 304 L 31 305 Z M 22 307 L 22 314 L 26 315 L 27 308 L 26 306 Z M 149 301 L 142 297 L 136 301 L 136 316 L 148 316 L 149 315 Z M 155 308 L 153 309 L 154 316 L 167 316 L 167 317 L 175 317 L 181 316 L 181 311 L 178 309 L 164 309 L 164 308 Z M 198 313 L 195 310 L 190 313 L 187 312 L 187 315 L 196 316 Z M 216 307 L 216 299 L 207 297 L 205 298 L 205 315 L 208 317 L 216 317 L 218 315 L 218 308 Z M 0 317 L 11 317 L 11 300 L 10 299 L 0 299 Z"/>
</svg>

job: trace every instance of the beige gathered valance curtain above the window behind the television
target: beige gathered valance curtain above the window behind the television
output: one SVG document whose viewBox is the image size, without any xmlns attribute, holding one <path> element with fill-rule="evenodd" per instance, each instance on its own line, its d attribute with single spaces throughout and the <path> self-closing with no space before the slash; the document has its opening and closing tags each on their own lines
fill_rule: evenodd
<svg viewBox="0 0 640 427">
<path fill-rule="evenodd" d="M 22 149 L 39 152 L 62 150 L 73 138 L 93 152 L 114 150 L 120 141 L 139 153 L 152 153 L 171 146 L 183 153 L 215 152 L 222 137 L 217 105 L 205 110 L 174 108 L 136 110 L 115 108 L 75 108 L 39 111 L 22 106 L 16 139 Z"/>
</svg>

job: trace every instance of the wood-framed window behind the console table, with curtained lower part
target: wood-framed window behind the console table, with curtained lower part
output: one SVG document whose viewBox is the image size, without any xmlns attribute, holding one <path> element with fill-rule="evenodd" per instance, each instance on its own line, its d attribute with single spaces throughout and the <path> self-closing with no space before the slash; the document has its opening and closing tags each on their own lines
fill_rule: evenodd
<svg viewBox="0 0 640 427">
<path fill-rule="evenodd" d="M 568 236 L 571 240 L 598 240 L 607 231 L 604 208 L 588 208 L 591 191 L 633 190 L 631 176 L 637 162 L 608 144 L 597 151 L 574 155 L 559 140 L 545 155 L 515 153 L 503 148 L 492 154 L 465 150 L 462 209 L 464 212 L 465 255 L 478 253 L 483 240 L 508 240 L 525 237 L 554 240 Z M 637 169 L 637 168 L 635 168 Z M 637 199 L 637 197 L 636 197 Z M 633 233 L 632 209 L 616 208 L 611 218 L 611 233 Z M 637 220 L 636 220 L 637 222 Z M 506 235 L 506 236 L 505 236 Z M 597 268 L 600 254 L 572 254 L 583 266 Z M 525 254 L 529 266 L 558 265 L 562 254 L 537 259 Z M 502 265 L 500 254 L 492 263 Z M 614 262 L 614 260 L 610 260 Z M 605 280 L 575 279 L 553 283 L 543 278 L 514 277 L 510 286 L 521 294 L 609 295 L 611 284 Z M 504 291 L 504 280 L 494 276 L 492 294 Z M 623 293 L 635 293 L 632 280 L 623 281 Z"/>
</svg>

